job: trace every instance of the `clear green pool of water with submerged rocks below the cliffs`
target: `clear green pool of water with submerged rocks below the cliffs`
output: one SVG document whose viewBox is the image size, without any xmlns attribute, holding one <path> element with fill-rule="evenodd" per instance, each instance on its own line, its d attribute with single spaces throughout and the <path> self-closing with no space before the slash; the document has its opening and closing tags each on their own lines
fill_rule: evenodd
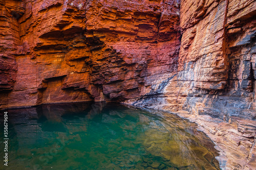
<svg viewBox="0 0 256 170">
<path fill-rule="evenodd" d="M 103 103 L 5 111 L 9 162 L 1 169 L 220 169 L 214 143 L 174 114 Z"/>
</svg>

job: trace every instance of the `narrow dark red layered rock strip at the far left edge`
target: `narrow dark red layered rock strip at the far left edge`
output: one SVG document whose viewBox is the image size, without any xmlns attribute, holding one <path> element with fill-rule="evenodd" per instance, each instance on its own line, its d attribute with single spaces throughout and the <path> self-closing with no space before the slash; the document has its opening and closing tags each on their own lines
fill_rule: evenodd
<svg viewBox="0 0 256 170">
<path fill-rule="evenodd" d="M 25 9 L 22 2 L 0 1 L 0 98 L 1 105 L 7 105 L 8 92 L 13 90 L 16 80 L 17 64 L 15 55 L 20 44 L 17 16 Z"/>
</svg>

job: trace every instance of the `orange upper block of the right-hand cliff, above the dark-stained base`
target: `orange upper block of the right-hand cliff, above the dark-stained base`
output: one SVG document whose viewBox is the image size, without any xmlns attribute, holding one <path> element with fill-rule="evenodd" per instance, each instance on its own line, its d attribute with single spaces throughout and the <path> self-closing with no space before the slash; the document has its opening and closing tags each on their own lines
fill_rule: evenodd
<svg viewBox="0 0 256 170">
<path fill-rule="evenodd" d="M 182 1 L 179 70 L 193 72 L 190 78 L 184 72 L 181 80 L 194 81 L 200 89 L 228 87 L 230 44 L 234 43 L 230 38 L 236 33 L 250 34 L 254 29 L 253 16 L 254 1 Z M 242 29 L 247 22 L 252 25 Z"/>
</svg>

